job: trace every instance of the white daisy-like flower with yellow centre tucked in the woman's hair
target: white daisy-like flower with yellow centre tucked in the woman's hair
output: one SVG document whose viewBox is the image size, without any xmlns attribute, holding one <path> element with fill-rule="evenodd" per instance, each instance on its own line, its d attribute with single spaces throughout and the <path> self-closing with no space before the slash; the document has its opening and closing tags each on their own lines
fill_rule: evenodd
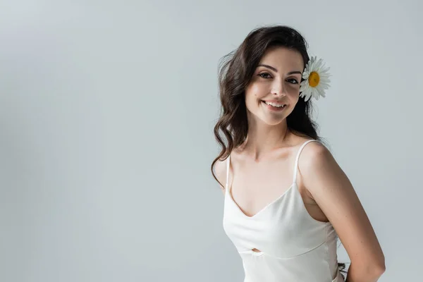
<svg viewBox="0 0 423 282">
<path fill-rule="evenodd" d="M 305 97 L 305 101 L 314 97 L 319 99 L 319 97 L 325 97 L 325 90 L 329 88 L 329 67 L 324 68 L 324 63 L 322 59 L 316 60 L 316 56 L 312 56 L 311 59 L 305 65 L 304 72 L 302 73 L 302 78 L 304 81 L 300 84 L 300 97 Z"/>
</svg>

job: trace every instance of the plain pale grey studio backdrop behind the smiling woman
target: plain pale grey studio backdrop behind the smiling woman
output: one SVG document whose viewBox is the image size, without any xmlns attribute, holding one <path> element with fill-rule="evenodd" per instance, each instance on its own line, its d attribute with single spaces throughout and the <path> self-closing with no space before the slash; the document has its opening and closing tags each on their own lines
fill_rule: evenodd
<svg viewBox="0 0 423 282">
<path fill-rule="evenodd" d="M 0 281 L 242 281 L 209 170 L 216 75 L 270 24 L 298 29 L 331 67 L 314 118 L 384 250 L 380 281 L 418 281 L 422 8 L 1 1 Z"/>
</svg>

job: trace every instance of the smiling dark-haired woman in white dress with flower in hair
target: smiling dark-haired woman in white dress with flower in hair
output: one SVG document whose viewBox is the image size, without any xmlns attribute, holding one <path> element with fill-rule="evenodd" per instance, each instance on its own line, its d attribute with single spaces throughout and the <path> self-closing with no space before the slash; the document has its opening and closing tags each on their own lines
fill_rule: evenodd
<svg viewBox="0 0 423 282">
<path fill-rule="evenodd" d="M 346 281 L 377 281 L 384 254 L 310 118 L 309 98 L 324 97 L 329 68 L 309 58 L 298 31 L 279 25 L 253 30 L 227 59 L 214 128 L 223 149 L 211 168 L 244 281 L 344 281 L 338 236 L 351 260 Z"/>
</svg>

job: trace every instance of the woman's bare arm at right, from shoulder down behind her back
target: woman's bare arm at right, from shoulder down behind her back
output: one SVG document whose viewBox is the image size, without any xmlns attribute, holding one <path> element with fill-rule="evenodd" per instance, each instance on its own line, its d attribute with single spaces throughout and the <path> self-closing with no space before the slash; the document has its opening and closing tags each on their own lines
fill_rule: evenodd
<svg viewBox="0 0 423 282">
<path fill-rule="evenodd" d="M 329 149 L 310 143 L 304 147 L 298 167 L 302 183 L 348 252 L 347 282 L 377 281 L 385 271 L 384 253 L 353 185 Z"/>
</svg>

